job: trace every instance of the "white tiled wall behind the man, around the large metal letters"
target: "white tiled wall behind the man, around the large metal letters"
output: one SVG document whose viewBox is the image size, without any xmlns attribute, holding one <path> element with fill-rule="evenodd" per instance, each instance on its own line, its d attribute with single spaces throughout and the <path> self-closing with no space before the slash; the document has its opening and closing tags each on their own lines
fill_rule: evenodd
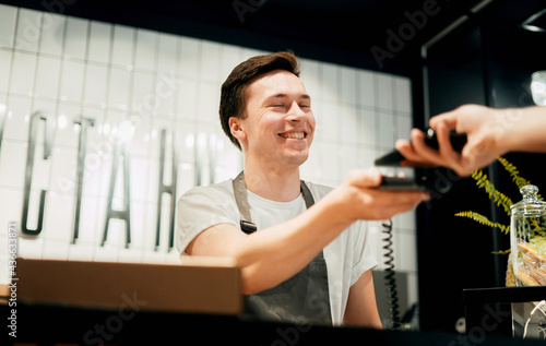
<svg viewBox="0 0 546 346">
<path fill-rule="evenodd" d="M 177 262 L 177 253 L 167 251 L 166 218 L 161 247 L 154 251 L 161 131 L 167 130 L 178 150 L 177 195 L 197 183 L 198 170 L 203 184 L 234 177 L 241 168 L 241 155 L 217 120 L 219 85 L 237 63 L 263 51 L 1 4 L 0 33 L 0 115 L 5 115 L 0 254 L 7 250 L 8 223 L 21 222 L 29 115 L 41 110 L 56 118 L 57 132 L 45 160 L 44 126 L 38 127 L 28 219 L 36 225 L 44 189 L 45 224 L 38 237 L 20 240 L 20 254 Z M 311 156 L 301 169 L 304 179 L 336 186 L 351 168 L 370 167 L 397 138 L 407 138 L 412 126 L 407 79 L 308 59 L 302 59 L 301 70 L 318 124 Z M 74 120 L 81 117 L 94 119 L 95 126 L 88 131 L 80 237 L 72 244 L 81 131 Z M 119 133 L 130 141 L 129 249 L 123 247 L 120 220 L 110 222 L 108 241 L 99 247 L 111 138 Z M 215 155 L 206 154 L 211 148 Z M 164 182 L 168 180 L 165 177 Z M 115 207 L 121 205 L 120 187 Z M 397 270 L 408 272 L 416 283 L 414 214 L 395 217 L 394 225 Z M 380 224 L 371 224 L 370 235 L 380 258 Z M 0 277 L 5 279 L 3 259 Z"/>
</svg>

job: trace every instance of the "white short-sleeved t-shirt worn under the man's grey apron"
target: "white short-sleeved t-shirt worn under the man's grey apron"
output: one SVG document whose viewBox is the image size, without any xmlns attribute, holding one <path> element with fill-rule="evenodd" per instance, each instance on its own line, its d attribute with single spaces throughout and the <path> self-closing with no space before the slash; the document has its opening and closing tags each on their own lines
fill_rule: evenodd
<svg viewBox="0 0 546 346">
<path fill-rule="evenodd" d="M 332 188 L 307 182 L 314 202 Z M 290 202 L 275 202 L 263 199 L 247 190 L 250 216 L 258 231 L 281 224 L 306 211 L 300 194 Z M 197 187 L 186 192 L 177 203 L 176 247 L 186 255 L 186 247 L 203 229 L 217 224 L 233 224 L 239 227 L 240 214 L 234 198 L 232 179 L 209 187 Z M 373 269 L 373 258 L 367 240 L 367 223 L 356 222 L 330 242 L 323 250 L 328 267 L 328 285 L 332 322 L 343 322 L 348 290 L 363 273 Z"/>
</svg>

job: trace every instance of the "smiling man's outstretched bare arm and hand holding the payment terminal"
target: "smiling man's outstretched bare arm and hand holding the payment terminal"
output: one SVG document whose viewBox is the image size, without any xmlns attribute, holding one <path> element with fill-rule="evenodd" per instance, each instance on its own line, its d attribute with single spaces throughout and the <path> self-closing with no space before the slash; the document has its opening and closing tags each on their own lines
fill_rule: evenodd
<svg viewBox="0 0 546 346">
<path fill-rule="evenodd" d="M 274 287 L 302 270 L 327 244 L 357 219 L 388 219 L 428 199 L 418 191 L 376 189 L 379 171 L 353 171 L 297 217 L 245 235 L 230 224 L 199 234 L 188 246 L 191 255 L 233 256 L 241 267 L 244 294 Z"/>
</svg>

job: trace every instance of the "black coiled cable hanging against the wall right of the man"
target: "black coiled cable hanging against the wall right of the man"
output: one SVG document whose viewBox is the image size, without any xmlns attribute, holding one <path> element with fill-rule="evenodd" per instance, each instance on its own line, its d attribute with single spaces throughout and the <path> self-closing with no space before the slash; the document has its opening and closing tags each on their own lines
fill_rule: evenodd
<svg viewBox="0 0 546 346">
<path fill-rule="evenodd" d="M 389 318 L 391 320 L 391 329 L 396 330 L 400 329 L 400 315 L 399 315 L 399 296 L 396 291 L 396 278 L 394 277 L 394 256 L 392 249 L 392 220 L 389 219 L 382 224 L 383 230 L 382 232 L 387 235 L 383 238 L 385 244 L 383 246 L 384 253 L 384 265 L 385 265 L 385 275 L 384 275 L 384 285 L 387 290 L 387 299 L 389 305 Z"/>
</svg>

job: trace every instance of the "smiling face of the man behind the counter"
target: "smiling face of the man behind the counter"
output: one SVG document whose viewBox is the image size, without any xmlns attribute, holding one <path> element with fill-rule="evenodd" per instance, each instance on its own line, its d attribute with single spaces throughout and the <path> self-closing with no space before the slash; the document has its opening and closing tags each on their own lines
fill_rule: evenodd
<svg viewBox="0 0 546 346">
<path fill-rule="evenodd" d="M 309 156 L 314 133 L 311 99 L 295 74 L 275 70 L 247 88 L 246 154 L 299 166 Z"/>
</svg>

